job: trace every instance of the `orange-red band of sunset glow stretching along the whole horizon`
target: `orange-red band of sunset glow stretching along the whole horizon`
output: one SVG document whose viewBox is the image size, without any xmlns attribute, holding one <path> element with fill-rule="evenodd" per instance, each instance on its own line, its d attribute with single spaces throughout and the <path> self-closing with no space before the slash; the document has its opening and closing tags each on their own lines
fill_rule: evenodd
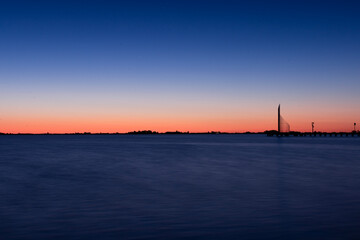
<svg viewBox="0 0 360 240">
<path fill-rule="evenodd" d="M 284 114 L 285 119 L 290 123 L 291 131 L 311 131 L 311 120 Z M 20 118 L 11 117 L 0 120 L 0 132 L 3 133 L 126 133 L 130 131 L 152 130 L 158 132 L 182 131 L 182 132 L 262 132 L 265 130 L 276 130 L 277 119 L 274 116 L 231 118 L 224 117 L 77 117 L 77 118 Z M 342 118 L 333 118 L 326 121 L 325 118 L 316 117 L 316 131 L 352 131 L 354 121 Z"/>
</svg>

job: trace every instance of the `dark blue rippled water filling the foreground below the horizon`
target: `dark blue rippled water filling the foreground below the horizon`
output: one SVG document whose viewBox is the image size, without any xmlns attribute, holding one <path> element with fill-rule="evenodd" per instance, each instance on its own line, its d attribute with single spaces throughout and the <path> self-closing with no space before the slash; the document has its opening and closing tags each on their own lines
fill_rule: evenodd
<svg viewBox="0 0 360 240">
<path fill-rule="evenodd" d="M 0 239 L 360 239 L 360 138 L 0 136 Z"/>
</svg>

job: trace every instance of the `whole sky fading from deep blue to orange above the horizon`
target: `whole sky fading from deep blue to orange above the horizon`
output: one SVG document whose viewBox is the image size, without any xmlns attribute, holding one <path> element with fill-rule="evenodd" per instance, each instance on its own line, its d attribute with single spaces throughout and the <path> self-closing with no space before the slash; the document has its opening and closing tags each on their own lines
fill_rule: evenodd
<svg viewBox="0 0 360 240">
<path fill-rule="evenodd" d="M 0 132 L 351 131 L 359 7 L 1 1 Z"/>
</svg>

